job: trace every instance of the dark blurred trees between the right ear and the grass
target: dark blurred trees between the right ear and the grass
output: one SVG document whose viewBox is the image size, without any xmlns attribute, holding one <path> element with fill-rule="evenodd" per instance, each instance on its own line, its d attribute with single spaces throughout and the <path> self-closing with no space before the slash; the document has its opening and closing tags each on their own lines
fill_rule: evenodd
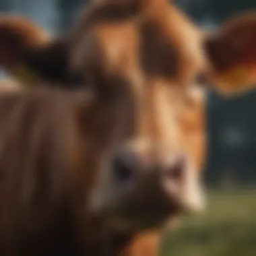
<svg viewBox="0 0 256 256">
<path fill-rule="evenodd" d="M 206 180 L 219 184 L 222 170 L 232 170 L 239 183 L 256 182 L 256 90 L 223 98 L 210 92 Z"/>
</svg>

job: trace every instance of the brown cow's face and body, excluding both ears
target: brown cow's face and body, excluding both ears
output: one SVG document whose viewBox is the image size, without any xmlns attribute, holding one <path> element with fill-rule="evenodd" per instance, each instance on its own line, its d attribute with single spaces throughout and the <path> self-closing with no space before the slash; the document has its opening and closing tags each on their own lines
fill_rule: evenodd
<svg viewBox="0 0 256 256">
<path fill-rule="evenodd" d="M 86 88 L 0 94 L 3 255 L 132 255 L 203 209 L 200 38 L 167 1 L 100 1 L 58 40 Z"/>
</svg>

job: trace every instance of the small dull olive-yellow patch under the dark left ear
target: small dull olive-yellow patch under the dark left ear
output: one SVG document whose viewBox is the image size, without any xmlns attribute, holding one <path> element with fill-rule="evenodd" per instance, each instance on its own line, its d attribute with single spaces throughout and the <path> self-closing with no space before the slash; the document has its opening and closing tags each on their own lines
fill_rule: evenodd
<svg viewBox="0 0 256 256">
<path fill-rule="evenodd" d="M 24 65 L 19 65 L 14 70 L 14 75 L 24 86 L 33 86 L 38 81 L 38 76 Z"/>
</svg>

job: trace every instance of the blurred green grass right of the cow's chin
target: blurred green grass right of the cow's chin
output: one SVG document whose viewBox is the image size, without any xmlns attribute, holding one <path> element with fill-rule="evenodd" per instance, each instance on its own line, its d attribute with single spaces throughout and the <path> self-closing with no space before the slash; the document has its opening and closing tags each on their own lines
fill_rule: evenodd
<svg viewBox="0 0 256 256">
<path fill-rule="evenodd" d="M 209 193 L 203 216 L 166 234 L 162 256 L 256 256 L 256 189 Z"/>
</svg>

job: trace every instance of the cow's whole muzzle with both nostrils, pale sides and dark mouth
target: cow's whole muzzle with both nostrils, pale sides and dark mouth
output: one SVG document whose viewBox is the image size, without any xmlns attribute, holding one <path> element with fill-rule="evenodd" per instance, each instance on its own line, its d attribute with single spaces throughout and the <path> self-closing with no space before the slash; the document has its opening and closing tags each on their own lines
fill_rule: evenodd
<svg viewBox="0 0 256 256">
<path fill-rule="evenodd" d="M 164 162 L 119 150 L 106 166 L 92 191 L 90 209 L 119 226 L 156 228 L 174 216 L 203 210 L 199 177 L 184 154 L 171 154 Z"/>
</svg>

